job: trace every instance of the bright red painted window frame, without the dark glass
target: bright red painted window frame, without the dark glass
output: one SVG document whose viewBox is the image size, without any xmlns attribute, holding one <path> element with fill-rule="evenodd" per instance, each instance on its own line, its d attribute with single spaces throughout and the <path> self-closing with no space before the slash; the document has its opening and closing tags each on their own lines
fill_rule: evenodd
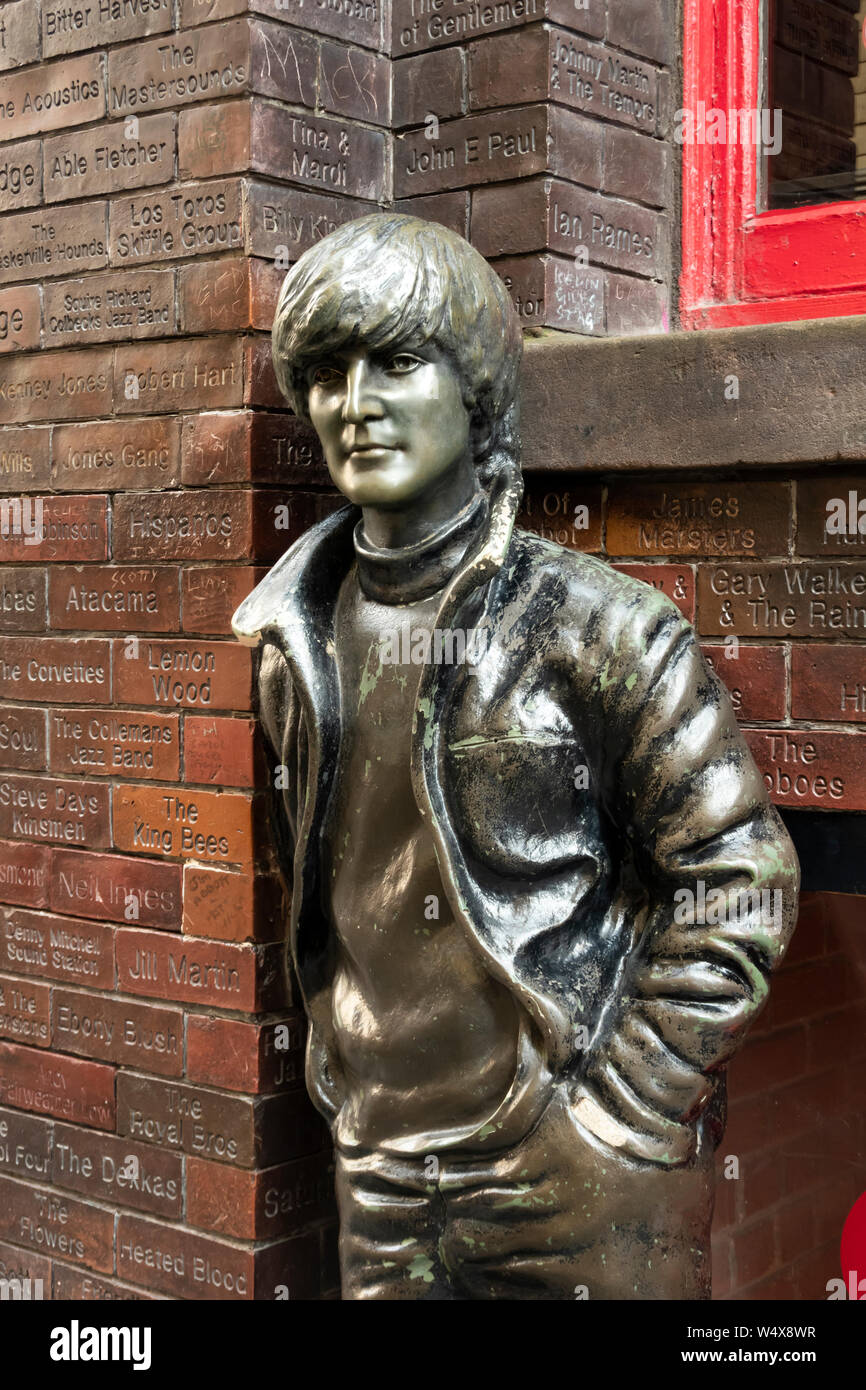
<svg viewBox="0 0 866 1390">
<path fill-rule="evenodd" d="M 762 0 L 685 0 L 685 110 L 760 108 L 760 11 Z M 866 202 L 756 213 L 753 146 L 681 149 L 684 328 L 866 313 Z"/>
</svg>

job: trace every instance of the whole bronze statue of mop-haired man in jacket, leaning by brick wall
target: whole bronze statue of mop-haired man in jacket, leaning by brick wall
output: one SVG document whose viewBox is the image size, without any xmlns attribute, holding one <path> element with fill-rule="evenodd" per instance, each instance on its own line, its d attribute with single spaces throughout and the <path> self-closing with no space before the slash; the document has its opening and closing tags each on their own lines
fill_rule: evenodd
<svg viewBox="0 0 866 1390">
<path fill-rule="evenodd" d="M 402 215 L 306 252 L 274 322 L 350 503 L 234 621 L 343 1298 L 706 1298 L 798 865 L 676 606 L 514 530 L 520 356 L 491 267 Z"/>
</svg>

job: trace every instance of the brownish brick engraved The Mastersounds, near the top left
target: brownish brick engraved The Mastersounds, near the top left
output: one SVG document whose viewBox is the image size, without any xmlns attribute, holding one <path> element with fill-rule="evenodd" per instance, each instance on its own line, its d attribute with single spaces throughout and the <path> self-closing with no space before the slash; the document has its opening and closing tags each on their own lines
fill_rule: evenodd
<svg viewBox="0 0 866 1390">
<path fill-rule="evenodd" d="M 249 88 L 249 71 L 245 19 L 132 43 L 108 54 L 108 114 L 140 115 L 206 97 L 239 96 Z"/>
</svg>

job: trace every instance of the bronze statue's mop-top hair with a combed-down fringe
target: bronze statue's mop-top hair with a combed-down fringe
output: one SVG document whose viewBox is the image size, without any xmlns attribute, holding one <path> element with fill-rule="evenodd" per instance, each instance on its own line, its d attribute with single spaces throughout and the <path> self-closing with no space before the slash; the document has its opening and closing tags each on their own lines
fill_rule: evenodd
<svg viewBox="0 0 866 1390">
<path fill-rule="evenodd" d="M 496 272 L 463 236 L 418 217 L 373 213 L 345 222 L 289 270 L 274 318 L 274 370 L 309 420 L 306 373 L 364 345 L 432 342 L 455 366 L 484 480 L 518 467 L 520 321 Z"/>
</svg>

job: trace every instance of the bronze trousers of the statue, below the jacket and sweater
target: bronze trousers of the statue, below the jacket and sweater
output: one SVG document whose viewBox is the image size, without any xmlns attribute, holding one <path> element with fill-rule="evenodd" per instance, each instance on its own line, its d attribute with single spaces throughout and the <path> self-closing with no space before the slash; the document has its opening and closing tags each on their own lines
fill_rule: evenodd
<svg viewBox="0 0 866 1390">
<path fill-rule="evenodd" d="M 342 1297 L 709 1298 L 713 1161 L 627 1159 L 563 1083 L 498 1154 L 341 1152 Z"/>
</svg>

